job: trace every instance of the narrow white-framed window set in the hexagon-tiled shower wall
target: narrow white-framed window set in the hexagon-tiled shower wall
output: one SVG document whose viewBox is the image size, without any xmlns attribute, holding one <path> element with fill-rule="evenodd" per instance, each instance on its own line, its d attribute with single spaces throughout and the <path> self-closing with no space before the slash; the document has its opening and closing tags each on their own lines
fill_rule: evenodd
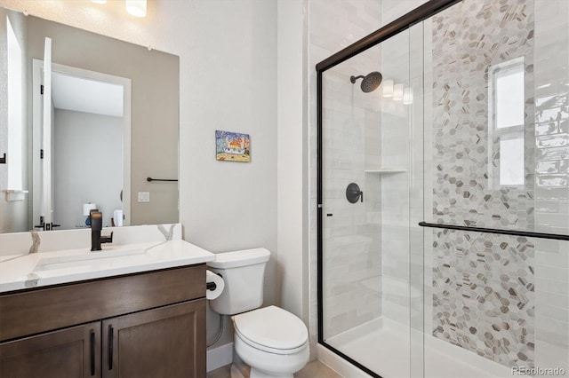
<svg viewBox="0 0 569 378">
<path fill-rule="evenodd" d="M 524 58 L 488 68 L 488 150 L 493 154 L 494 187 L 524 185 Z"/>
</svg>

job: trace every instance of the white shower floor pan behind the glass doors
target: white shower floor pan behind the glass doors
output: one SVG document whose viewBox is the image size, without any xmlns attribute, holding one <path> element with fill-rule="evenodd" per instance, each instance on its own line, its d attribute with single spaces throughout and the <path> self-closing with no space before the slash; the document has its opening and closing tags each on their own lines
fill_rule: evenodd
<svg viewBox="0 0 569 378">
<path fill-rule="evenodd" d="M 413 343 L 411 353 L 421 353 L 421 340 Z M 340 350 L 383 378 L 409 377 L 409 329 L 390 319 L 373 319 L 326 343 Z M 411 364 L 418 364 L 413 358 Z M 415 365 L 416 366 L 416 365 Z M 417 373 L 417 369 L 413 369 Z M 425 335 L 425 377 L 481 378 L 511 377 L 509 367 L 477 356 L 468 350 Z"/>
</svg>

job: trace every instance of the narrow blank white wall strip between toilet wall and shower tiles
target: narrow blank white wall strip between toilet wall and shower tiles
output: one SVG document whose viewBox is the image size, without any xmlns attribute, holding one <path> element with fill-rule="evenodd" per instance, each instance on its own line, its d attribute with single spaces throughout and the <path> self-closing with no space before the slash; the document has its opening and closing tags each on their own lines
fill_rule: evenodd
<svg viewBox="0 0 569 378">
<path fill-rule="evenodd" d="M 304 0 L 277 1 L 277 245 L 281 305 L 308 324 Z"/>
</svg>

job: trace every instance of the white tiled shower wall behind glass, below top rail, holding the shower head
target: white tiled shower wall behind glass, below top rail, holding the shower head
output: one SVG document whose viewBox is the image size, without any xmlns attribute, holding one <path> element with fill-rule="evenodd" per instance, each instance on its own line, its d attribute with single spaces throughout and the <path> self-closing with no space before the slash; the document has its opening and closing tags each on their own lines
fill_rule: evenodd
<svg viewBox="0 0 569 378">
<path fill-rule="evenodd" d="M 366 51 L 324 74 L 324 297 L 325 336 L 338 335 L 381 315 L 381 190 L 365 169 L 379 166 L 379 93 L 360 80 L 379 69 L 379 51 Z M 365 201 L 350 203 L 356 183 Z"/>
</svg>

